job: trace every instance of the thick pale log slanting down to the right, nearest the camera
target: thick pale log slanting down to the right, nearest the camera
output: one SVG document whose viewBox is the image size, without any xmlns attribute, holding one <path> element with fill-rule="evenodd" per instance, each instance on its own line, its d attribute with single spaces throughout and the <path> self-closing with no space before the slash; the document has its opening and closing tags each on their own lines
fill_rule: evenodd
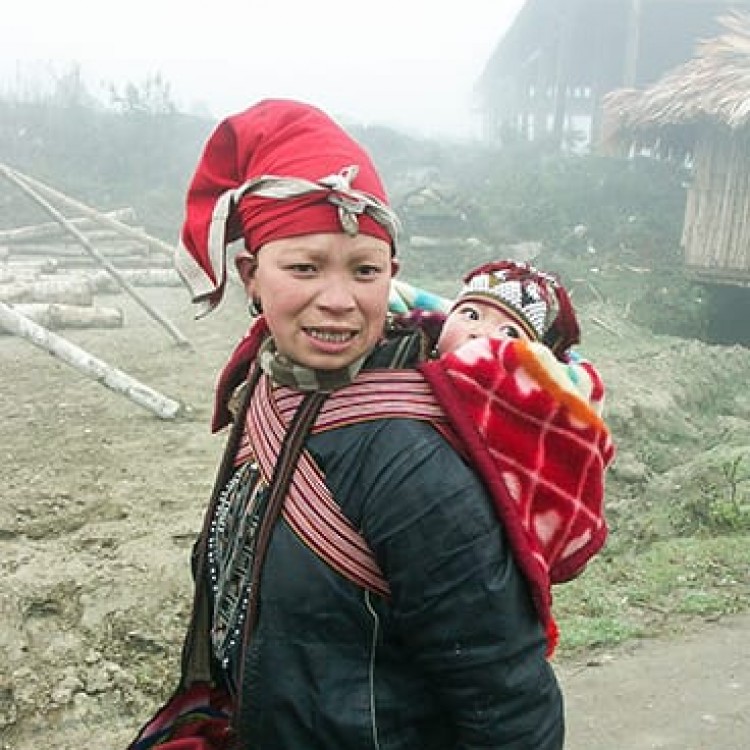
<svg viewBox="0 0 750 750">
<path fill-rule="evenodd" d="M 122 370 L 97 359 L 85 349 L 47 330 L 44 326 L 34 323 L 2 302 L 0 302 L 0 326 L 16 336 L 25 338 L 34 346 L 52 354 L 95 382 L 124 395 L 160 419 L 174 419 L 184 411 L 179 401 L 163 396 Z"/>
</svg>

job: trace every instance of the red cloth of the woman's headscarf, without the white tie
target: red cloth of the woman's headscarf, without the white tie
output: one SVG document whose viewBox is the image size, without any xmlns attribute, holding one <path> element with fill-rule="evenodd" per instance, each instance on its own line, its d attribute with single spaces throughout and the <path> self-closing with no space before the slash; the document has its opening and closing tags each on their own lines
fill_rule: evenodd
<svg viewBox="0 0 750 750">
<path fill-rule="evenodd" d="M 208 257 L 208 235 L 220 195 L 263 175 L 317 181 L 351 165 L 358 190 L 387 203 L 385 189 L 367 152 L 321 110 L 301 102 L 264 100 L 221 122 L 203 150 L 187 194 L 181 240 L 185 250 L 216 283 Z M 277 200 L 249 195 L 230 216 L 226 242 L 244 236 L 252 252 L 265 242 L 314 232 L 339 232 L 337 210 L 324 196 Z M 369 216 L 360 231 L 391 241 Z"/>
</svg>

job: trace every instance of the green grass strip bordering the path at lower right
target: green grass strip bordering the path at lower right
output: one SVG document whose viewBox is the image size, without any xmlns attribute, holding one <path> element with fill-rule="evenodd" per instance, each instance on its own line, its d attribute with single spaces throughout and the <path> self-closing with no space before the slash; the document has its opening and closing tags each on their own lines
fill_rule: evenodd
<svg viewBox="0 0 750 750">
<path fill-rule="evenodd" d="M 678 632 L 696 617 L 750 609 L 750 535 L 614 540 L 575 581 L 556 586 L 558 655 Z"/>
</svg>

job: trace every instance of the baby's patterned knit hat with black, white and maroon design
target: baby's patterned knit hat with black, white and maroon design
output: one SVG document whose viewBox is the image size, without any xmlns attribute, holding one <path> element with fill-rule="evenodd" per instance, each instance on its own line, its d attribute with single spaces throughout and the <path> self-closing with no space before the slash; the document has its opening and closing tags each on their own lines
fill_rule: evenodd
<svg viewBox="0 0 750 750">
<path fill-rule="evenodd" d="M 528 263 L 502 260 L 469 271 L 453 303 L 492 304 L 515 320 L 532 341 L 546 344 L 558 359 L 580 341 L 573 305 L 557 276 Z"/>
</svg>

